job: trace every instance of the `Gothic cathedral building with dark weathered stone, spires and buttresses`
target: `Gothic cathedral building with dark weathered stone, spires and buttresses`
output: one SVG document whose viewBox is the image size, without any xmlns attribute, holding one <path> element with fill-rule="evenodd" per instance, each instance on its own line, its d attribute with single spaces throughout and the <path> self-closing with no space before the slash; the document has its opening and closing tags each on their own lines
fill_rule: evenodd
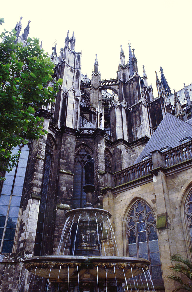
<svg viewBox="0 0 192 292">
<path fill-rule="evenodd" d="M 29 24 L 26 35 L 19 36 L 20 23 L 15 29 L 26 42 Z M 120 256 L 149 259 L 155 290 L 172 291 L 170 256 L 189 257 L 192 236 L 191 87 L 184 85 L 180 100 L 160 68 L 154 98 L 130 44 L 127 64 L 120 48 L 116 79 L 101 80 L 97 55 L 91 79 L 82 74 L 74 33 L 50 58 L 63 82 L 38 113 L 48 134 L 13 149 L 21 151 L 17 166 L 1 182 L 1 291 L 46 291 L 23 259 L 57 254 L 66 211 L 86 203 L 88 154 L 95 161 L 92 204 L 112 214 L 117 246 L 108 255 L 118 248 Z"/>
</svg>

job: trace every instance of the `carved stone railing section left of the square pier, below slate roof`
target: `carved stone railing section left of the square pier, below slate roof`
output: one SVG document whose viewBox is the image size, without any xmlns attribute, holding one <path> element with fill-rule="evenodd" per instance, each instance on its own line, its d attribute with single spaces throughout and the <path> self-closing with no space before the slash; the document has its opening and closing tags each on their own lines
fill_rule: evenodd
<svg viewBox="0 0 192 292">
<path fill-rule="evenodd" d="M 139 164 L 125 168 L 123 171 L 116 172 L 113 174 L 113 186 L 116 187 L 128 183 L 131 180 L 135 180 L 136 178 L 141 178 L 142 176 L 149 174 L 149 171 L 152 170 L 152 168 L 153 164 L 152 159 L 150 158 Z"/>
</svg>

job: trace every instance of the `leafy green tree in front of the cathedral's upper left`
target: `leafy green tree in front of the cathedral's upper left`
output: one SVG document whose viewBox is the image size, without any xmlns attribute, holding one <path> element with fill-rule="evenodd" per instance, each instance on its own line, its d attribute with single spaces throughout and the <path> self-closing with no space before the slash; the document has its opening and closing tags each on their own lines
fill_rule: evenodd
<svg viewBox="0 0 192 292">
<path fill-rule="evenodd" d="M 4 22 L 0 18 L 0 24 Z M 4 30 L 0 37 L 0 171 L 10 171 L 16 164 L 13 146 L 45 135 L 43 117 L 37 112 L 53 102 L 59 91 L 53 82 L 54 65 L 39 46 L 28 38 L 27 46 L 15 43 L 16 31 Z M 50 84 L 51 86 L 47 86 Z"/>
</svg>

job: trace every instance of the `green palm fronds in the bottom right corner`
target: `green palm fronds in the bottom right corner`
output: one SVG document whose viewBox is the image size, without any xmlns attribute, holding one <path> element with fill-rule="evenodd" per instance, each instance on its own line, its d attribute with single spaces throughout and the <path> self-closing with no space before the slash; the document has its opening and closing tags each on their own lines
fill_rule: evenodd
<svg viewBox="0 0 192 292">
<path fill-rule="evenodd" d="M 189 249 L 189 251 L 192 253 L 192 248 Z M 183 257 L 179 254 L 174 254 L 171 256 L 171 262 L 176 262 L 170 269 L 174 273 L 181 273 L 186 277 L 186 281 L 183 281 L 182 278 L 176 274 L 169 275 L 167 278 L 176 281 L 179 283 L 179 287 L 174 289 L 174 291 L 179 290 L 186 290 L 186 291 L 192 291 L 192 285 L 190 284 L 192 281 L 192 262 L 188 260 L 188 258 Z M 188 280 L 187 280 L 188 278 Z"/>
</svg>

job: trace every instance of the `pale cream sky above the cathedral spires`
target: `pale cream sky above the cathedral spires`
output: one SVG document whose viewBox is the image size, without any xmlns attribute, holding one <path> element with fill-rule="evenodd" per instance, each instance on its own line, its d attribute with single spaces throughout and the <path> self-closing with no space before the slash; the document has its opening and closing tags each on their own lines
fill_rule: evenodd
<svg viewBox="0 0 192 292">
<path fill-rule="evenodd" d="M 192 83 L 192 1 L 3 1 L 0 29 L 10 30 L 22 19 L 22 32 L 28 20 L 30 37 L 43 39 L 43 48 L 50 55 L 57 42 L 57 55 L 69 30 L 76 37 L 75 51 L 82 51 L 82 73 L 91 73 L 97 53 L 101 79 L 116 78 L 120 45 L 128 61 L 128 41 L 135 49 L 138 73 L 142 65 L 157 97 L 155 70 L 164 70 L 173 93 Z"/>
</svg>

